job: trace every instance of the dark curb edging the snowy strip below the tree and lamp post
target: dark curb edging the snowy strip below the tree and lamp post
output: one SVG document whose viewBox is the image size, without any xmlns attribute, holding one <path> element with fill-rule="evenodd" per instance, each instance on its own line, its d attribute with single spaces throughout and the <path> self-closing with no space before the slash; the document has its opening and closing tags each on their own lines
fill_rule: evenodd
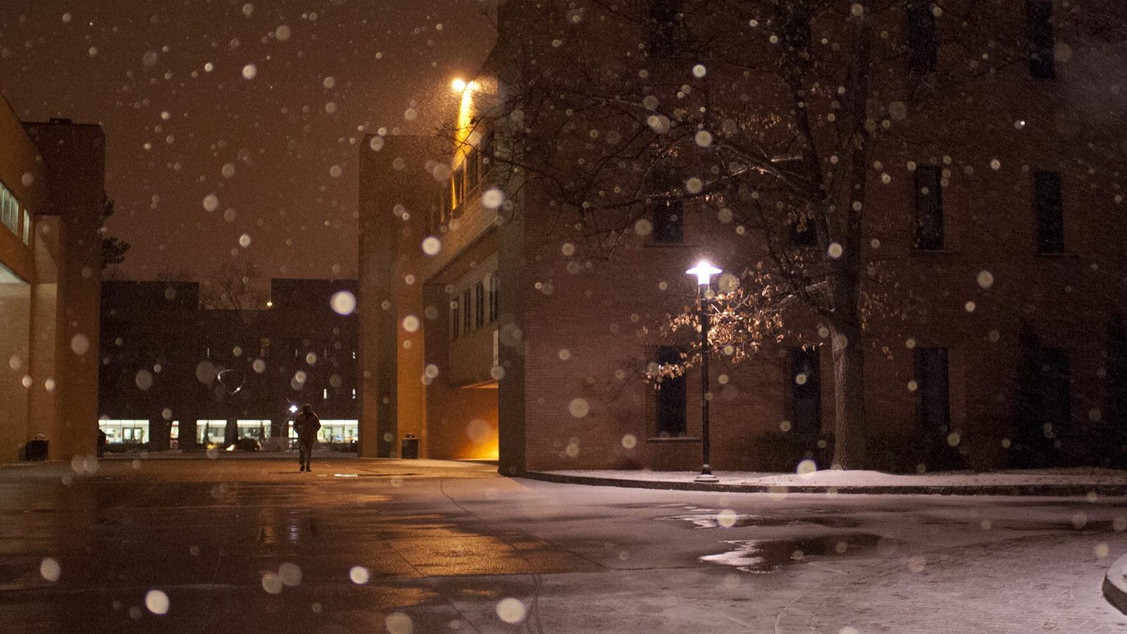
<svg viewBox="0 0 1127 634">
<path fill-rule="evenodd" d="M 1127 495 L 1122 484 L 1026 484 L 1026 485 L 952 485 L 952 486 L 764 486 L 758 484 L 710 484 L 704 482 L 676 482 L 651 479 L 625 479 L 597 476 L 553 474 L 550 472 L 524 472 L 521 477 L 559 484 L 582 484 L 587 486 L 621 486 L 628 488 L 655 488 L 663 491 L 710 491 L 716 493 L 828 493 L 868 495 L 1035 495 L 1035 496 L 1084 496 L 1090 494 L 1120 497 Z M 1127 605 L 1127 604 L 1125 604 Z"/>
</svg>

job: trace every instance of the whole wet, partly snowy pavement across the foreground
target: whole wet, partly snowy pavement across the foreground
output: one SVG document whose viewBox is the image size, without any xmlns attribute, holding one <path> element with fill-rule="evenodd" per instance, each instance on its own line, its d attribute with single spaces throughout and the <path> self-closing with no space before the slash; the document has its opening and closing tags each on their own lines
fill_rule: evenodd
<svg viewBox="0 0 1127 634">
<path fill-rule="evenodd" d="M 0 632 L 1127 632 L 1117 499 L 767 495 L 488 464 L 0 467 Z"/>
</svg>

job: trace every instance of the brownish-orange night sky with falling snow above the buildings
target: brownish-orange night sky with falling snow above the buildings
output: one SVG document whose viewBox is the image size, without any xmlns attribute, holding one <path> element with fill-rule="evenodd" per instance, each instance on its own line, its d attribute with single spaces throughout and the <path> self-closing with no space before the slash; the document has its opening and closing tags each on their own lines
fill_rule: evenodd
<svg viewBox="0 0 1127 634">
<path fill-rule="evenodd" d="M 0 90 L 24 121 L 105 130 L 108 235 L 133 245 L 118 278 L 232 258 L 353 278 L 361 140 L 438 126 L 491 46 L 489 7 L 5 0 Z"/>
</svg>

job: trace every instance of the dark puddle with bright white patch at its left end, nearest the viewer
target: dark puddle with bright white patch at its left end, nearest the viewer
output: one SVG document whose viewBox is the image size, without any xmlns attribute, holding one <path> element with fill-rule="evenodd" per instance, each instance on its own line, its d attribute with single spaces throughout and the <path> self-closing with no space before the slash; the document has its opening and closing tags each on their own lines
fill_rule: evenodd
<svg viewBox="0 0 1127 634">
<path fill-rule="evenodd" d="M 873 547 L 882 553 L 887 551 L 889 554 L 896 549 L 895 541 L 867 532 L 802 539 L 740 539 L 725 544 L 730 544 L 733 549 L 717 555 L 706 555 L 700 560 L 733 566 L 742 572 L 763 574 L 778 572 L 786 564 L 800 563 L 808 557 L 840 560 Z"/>
</svg>

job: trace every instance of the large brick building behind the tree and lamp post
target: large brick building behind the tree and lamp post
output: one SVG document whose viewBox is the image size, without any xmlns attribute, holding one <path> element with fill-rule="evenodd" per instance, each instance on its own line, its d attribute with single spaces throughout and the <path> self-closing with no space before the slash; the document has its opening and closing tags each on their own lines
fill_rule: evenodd
<svg viewBox="0 0 1127 634">
<path fill-rule="evenodd" d="M 858 121 L 880 142 L 857 167 L 864 239 L 846 245 L 868 265 L 859 274 L 871 300 L 864 336 L 845 342 L 824 326 L 826 314 L 795 308 L 790 332 L 749 361 L 717 358 L 713 468 L 793 469 L 804 458 L 828 466 L 838 397 L 861 399 L 859 440 L 873 468 L 1121 464 L 1127 77 L 1112 44 L 1127 36 L 1101 26 L 1112 24 L 1095 18 L 1101 3 L 1083 5 L 992 5 L 967 9 L 968 19 L 909 1 L 864 23 L 880 61 L 863 71 L 872 87 Z M 660 387 L 642 380 L 699 336 L 662 328 L 695 302 L 685 271 L 706 256 L 737 275 L 766 258 L 814 262 L 796 268 L 810 275 L 807 285 L 784 287 L 809 297 L 825 289 L 816 266 L 842 256 L 817 226 L 772 210 L 791 200 L 778 183 L 822 187 L 787 174 L 801 166 L 806 141 L 818 144 L 810 162 L 827 183 L 855 144 L 833 137 L 845 89 L 802 73 L 845 81 L 860 32 L 849 10 L 810 21 L 806 5 L 766 6 L 792 12 L 771 21 L 735 15 L 766 10 L 758 3 L 731 3 L 729 16 L 694 0 L 502 2 L 498 49 L 487 72 L 459 83 L 450 138 L 365 139 L 362 455 L 394 456 L 411 433 L 423 456 L 497 457 L 506 475 L 700 467 L 699 366 Z M 854 17 L 876 10 L 853 7 Z M 761 70 L 775 55 L 799 83 Z M 834 64 L 837 76 L 823 70 Z M 498 109 L 524 85 L 544 82 L 556 93 Z M 706 91 L 710 99 L 694 96 Z M 735 114 L 708 118 L 712 111 Z M 753 121 L 758 112 L 770 116 Z M 796 114 L 806 112 L 809 129 Z M 535 138 L 557 121 L 557 138 Z M 680 137 L 660 135 L 671 130 Z M 719 155 L 719 141 L 739 134 L 747 143 Z M 632 138 L 653 140 L 637 147 L 642 159 L 620 151 Z M 675 138 L 682 144 L 666 157 L 704 157 L 694 165 L 713 170 L 645 162 Z M 566 171 L 514 176 L 524 168 L 514 146 L 525 142 L 558 155 Z M 761 190 L 749 173 L 773 179 Z M 743 218 L 702 191 L 718 174 L 744 179 L 726 192 Z M 629 222 L 612 218 L 619 185 Z M 636 194 L 645 204 L 629 206 L 642 187 L 653 195 Z M 832 192 L 837 209 L 860 211 L 849 191 Z M 588 203 L 605 215 L 586 213 Z M 767 206 L 770 220 L 757 219 Z M 780 217 L 783 238 L 762 238 Z M 609 246 L 592 254 L 603 220 Z M 863 342 L 857 394 L 835 394 L 832 341 Z"/>
</svg>

